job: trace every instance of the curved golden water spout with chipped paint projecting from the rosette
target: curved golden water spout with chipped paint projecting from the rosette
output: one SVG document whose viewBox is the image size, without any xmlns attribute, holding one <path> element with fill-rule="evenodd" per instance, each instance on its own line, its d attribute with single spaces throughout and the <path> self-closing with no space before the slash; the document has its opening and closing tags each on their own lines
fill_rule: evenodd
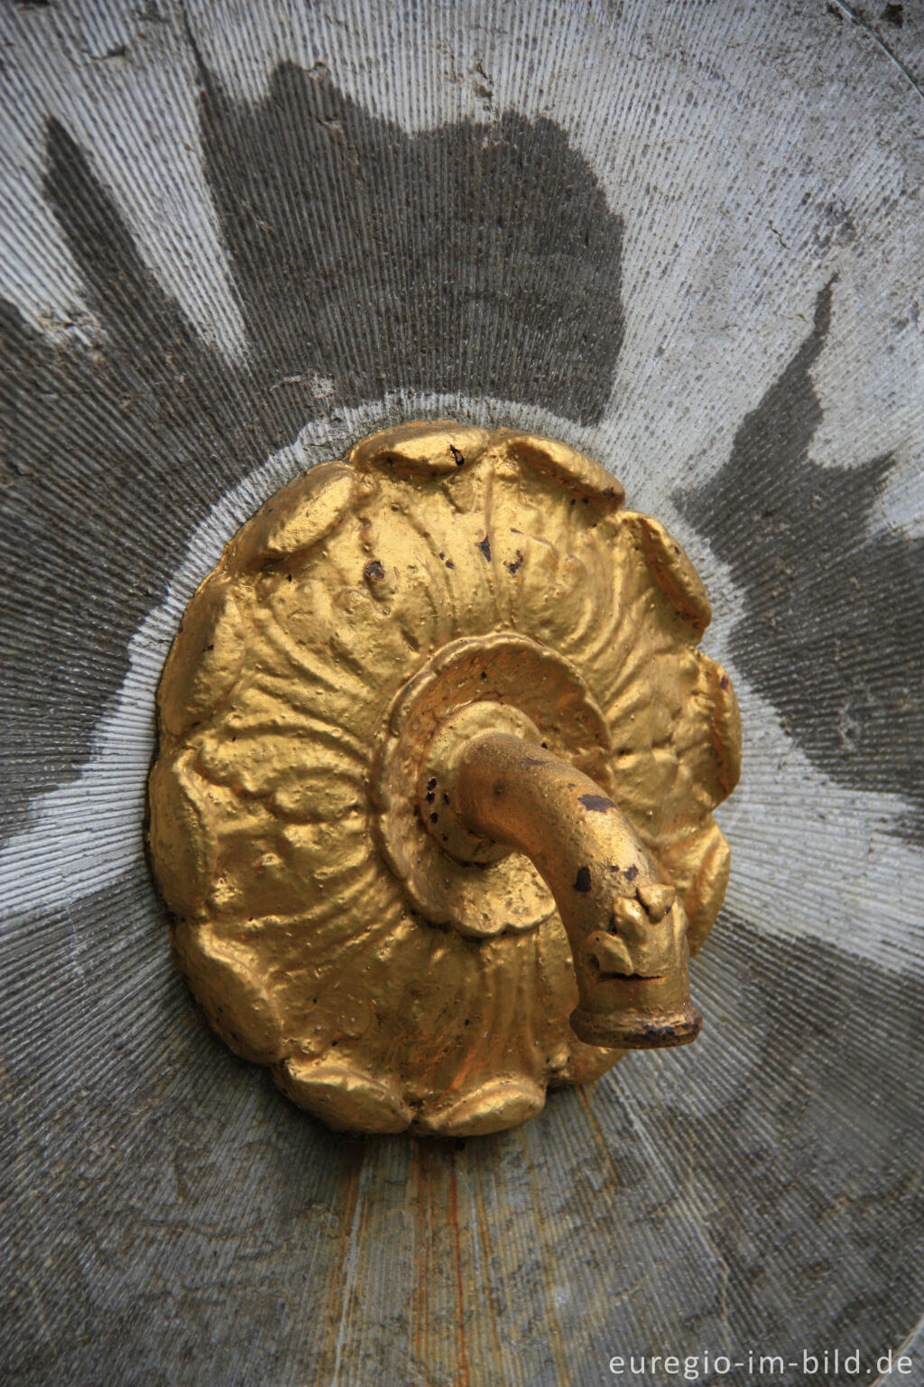
<svg viewBox="0 0 924 1387">
<path fill-rule="evenodd" d="M 697 1037 L 683 906 L 590 777 L 519 736 L 485 732 L 459 759 L 454 799 L 471 832 L 525 853 L 551 890 L 578 978 L 580 1040 L 652 1049 Z"/>
</svg>

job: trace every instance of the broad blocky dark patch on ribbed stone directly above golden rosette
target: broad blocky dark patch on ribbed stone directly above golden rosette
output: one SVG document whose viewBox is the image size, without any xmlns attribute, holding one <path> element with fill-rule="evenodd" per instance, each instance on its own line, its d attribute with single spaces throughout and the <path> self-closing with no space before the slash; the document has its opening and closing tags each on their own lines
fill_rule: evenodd
<svg viewBox="0 0 924 1387">
<path fill-rule="evenodd" d="M 409 136 L 324 68 L 234 104 L 201 65 L 206 175 L 251 341 L 338 398 L 392 387 L 593 423 L 623 337 L 622 221 L 547 119 Z"/>
</svg>

